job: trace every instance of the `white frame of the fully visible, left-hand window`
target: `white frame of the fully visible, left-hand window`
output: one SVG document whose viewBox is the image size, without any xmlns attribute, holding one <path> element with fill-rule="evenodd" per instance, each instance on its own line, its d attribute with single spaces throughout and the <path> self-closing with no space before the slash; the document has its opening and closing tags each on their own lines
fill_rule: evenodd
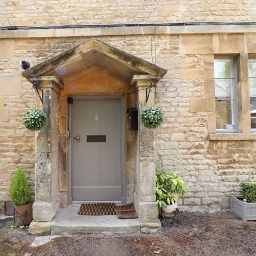
<svg viewBox="0 0 256 256">
<path fill-rule="evenodd" d="M 234 86 L 231 87 L 231 98 L 230 99 L 231 99 L 232 123 L 235 125 L 236 129 L 234 129 L 234 130 L 216 129 L 216 133 L 237 133 L 239 130 L 239 127 L 238 127 L 237 64 L 235 62 L 235 59 L 232 57 L 214 57 L 214 62 L 215 62 L 215 60 L 220 60 L 220 59 L 221 60 L 231 60 L 231 63 L 232 63 Z M 231 79 L 231 78 L 215 78 L 215 76 L 214 76 L 214 82 L 215 82 L 215 79 Z M 215 85 L 214 85 L 214 90 L 215 90 Z M 234 97 L 232 97 L 232 95 Z M 233 100 L 232 100 L 232 98 L 233 98 Z M 216 98 L 215 98 L 215 101 L 216 101 Z"/>
</svg>

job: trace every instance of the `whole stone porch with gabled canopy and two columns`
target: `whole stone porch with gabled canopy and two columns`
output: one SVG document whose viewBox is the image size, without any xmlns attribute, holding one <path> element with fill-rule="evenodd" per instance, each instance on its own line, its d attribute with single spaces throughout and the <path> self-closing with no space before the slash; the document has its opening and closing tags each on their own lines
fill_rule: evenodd
<svg viewBox="0 0 256 256">
<path fill-rule="evenodd" d="M 104 91 L 103 86 L 103 91 L 98 91 L 100 80 L 95 86 L 94 80 L 91 79 L 90 95 L 125 94 L 129 90 L 134 91 L 136 86 L 137 100 L 134 104 L 137 104 L 140 109 L 145 105 L 154 105 L 154 87 L 167 70 L 92 39 L 22 72 L 22 76 L 38 89 L 43 90 L 42 109 L 48 115 L 48 123 L 36 133 L 35 203 L 33 204 L 35 223 L 51 221 L 60 206 L 68 205 L 70 170 L 66 167 L 68 146 L 65 134 L 66 124 L 64 124 L 68 119 L 65 122 L 58 121 L 60 116 L 62 120 L 68 118 L 68 114 L 60 113 L 62 110 L 60 110 L 59 99 L 63 94 L 67 97 L 70 91 L 76 95 L 86 94 L 86 86 L 89 86 L 86 84 L 86 79 L 93 72 L 96 74 L 93 79 L 103 75 L 111 78 L 111 81 L 116 81 L 119 87 L 110 86 Z M 80 87 L 77 85 L 79 79 Z M 146 89 L 151 83 L 153 85 L 151 97 L 146 103 L 146 92 L 140 89 Z M 66 88 L 72 90 L 66 90 Z M 61 90 L 64 90 L 63 93 L 60 93 Z M 137 137 L 134 140 L 137 145 L 133 150 L 136 154 L 134 157 L 135 190 L 132 190 L 132 193 L 134 191 L 134 205 L 141 227 L 147 232 L 147 229 L 160 228 L 158 209 L 155 204 L 154 130 L 145 129 L 139 124 L 138 133 L 135 136 Z"/>
</svg>

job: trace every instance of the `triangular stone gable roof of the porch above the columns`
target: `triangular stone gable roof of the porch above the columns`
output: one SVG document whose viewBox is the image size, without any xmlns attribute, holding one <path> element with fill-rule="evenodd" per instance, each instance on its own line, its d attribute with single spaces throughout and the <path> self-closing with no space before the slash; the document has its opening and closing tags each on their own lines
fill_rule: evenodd
<svg viewBox="0 0 256 256">
<path fill-rule="evenodd" d="M 54 76 L 65 85 L 72 78 L 85 76 L 94 69 L 126 82 L 134 75 L 154 75 L 160 79 L 167 72 L 142 58 L 93 39 L 33 66 L 22 75 L 28 80 Z"/>
</svg>

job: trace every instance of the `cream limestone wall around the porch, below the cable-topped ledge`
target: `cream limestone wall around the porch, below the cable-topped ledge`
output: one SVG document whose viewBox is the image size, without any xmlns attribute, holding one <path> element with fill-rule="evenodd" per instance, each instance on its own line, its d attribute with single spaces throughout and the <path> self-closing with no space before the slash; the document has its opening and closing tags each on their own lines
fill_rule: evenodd
<svg viewBox="0 0 256 256">
<path fill-rule="evenodd" d="M 21 77 L 21 60 L 36 65 L 90 38 L 0 40 L 0 201 L 8 200 L 9 180 L 17 167 L 30 175 L 31 184 L 34 179 L 35 134 L 22 125 L 22 112 L 33 106 L 33 90 Z M 183 210 L 227 210 L 228 197 L 238 190 L 240 181 L 256 181 L 256 140 L 250 136 L 249 140 L 208 139 L 215 123 L 213 57 L 256 53 L 256 34 L 95 38 L 168 70 L 156 89 L 156 103 L 165 117 L 156 130 L 157 162 L 163 170 L 179 172 L 190 185 L 191 192 L 180 200 Z M 132 159 L 128 160 L 127 167 L 133 166 Z M 128 187 L 132 192 L 134 187 Z"/>
</svg>

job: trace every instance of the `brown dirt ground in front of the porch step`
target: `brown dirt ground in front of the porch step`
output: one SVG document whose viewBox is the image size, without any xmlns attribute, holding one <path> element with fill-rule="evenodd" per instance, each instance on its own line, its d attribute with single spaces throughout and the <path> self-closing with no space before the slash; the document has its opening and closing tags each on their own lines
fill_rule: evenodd
<svg viewBox="0 0 256 256">
<path fill-rule="evenodd" d="M 178 213 L 157 234 L 70 235 L 31 247 L 35 236 L 0 220 L 0 255 L 256 255 L 256 221 L 230 212 Z"/>
</svg>

